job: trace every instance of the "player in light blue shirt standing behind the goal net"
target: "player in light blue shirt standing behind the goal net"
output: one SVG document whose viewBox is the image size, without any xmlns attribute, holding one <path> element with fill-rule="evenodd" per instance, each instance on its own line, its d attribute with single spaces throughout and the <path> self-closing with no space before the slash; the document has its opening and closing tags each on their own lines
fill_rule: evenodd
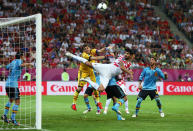
<svg viewBox="0 0 193 131">
<path fill-rule="evenodd" d="M 7 114 L 9 112 L 9 108 L 11 107 L 11 104 L 13 101 L 15 101 L 15 104 L 12 107 L 12 113 L 11 113 L 11 122 L 18 126 L 19 123 L 16 121 L 15 116 L 18 112 L 19 105 L 20 105 L 20 92 L 18 89 L 18 79 L 21 76 L 22 67 L 28 67 L 32 66 L 31 63 L 24 63 L 24 56 L 22 53 L 16 54 L 16 59 L 13 60 L 10 64 L 8 64 L 5 68 L 9 70 L 9 76 L 6 80 L 6 93 L 9 97 L 9 101 L 5 105 L 4 114 L 1 116 L 1 119 L 9 123 L 10 121 L 7 118 Z"/>
</svg>

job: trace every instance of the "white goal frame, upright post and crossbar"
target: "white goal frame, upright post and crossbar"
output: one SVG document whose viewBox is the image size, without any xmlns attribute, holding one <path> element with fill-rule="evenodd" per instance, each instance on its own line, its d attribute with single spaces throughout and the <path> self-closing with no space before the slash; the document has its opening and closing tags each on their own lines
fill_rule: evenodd
<svg viewBox="0 0 193 131">
<path fill-rule="evenodd" d="M 35 14 L 28 17 L 18 17 L 7 22 L 0 22 L 0 28 L 35 20 L 36 23 L 36 129 L 42 129 L 42 15 Z"/>
</svg>

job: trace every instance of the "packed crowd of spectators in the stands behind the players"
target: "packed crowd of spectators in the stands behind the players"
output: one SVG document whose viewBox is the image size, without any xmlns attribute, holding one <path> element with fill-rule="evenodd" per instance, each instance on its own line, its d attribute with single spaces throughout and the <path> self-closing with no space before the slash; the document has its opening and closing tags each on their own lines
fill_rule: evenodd
<svg viewBox="0 0 193 131">
<path fill-rule="evenodd" d="M 68 50 L 81 55 L 82 45 L 88 44 L 97 49 L 114 45 L 116 57 L 130 48 L 136 55 L 133 61 L 136 67 L 145 66 L 153 55 L 162 68 L 193 68 L 193 49 L 170 31 L 168 21 L 156 15 L 146 0 L 111 0 L 106 11 L 97 10 L 98 3 L 98 0 L 0 0 L 0 17 L 42 13 L 43 67 L 78 68 L 78 63 L 67 59 L 64 53 Z M 19 47 L 31 53 L 27 54 L 31 60 L 35 56 L 35 26 L 24 29 L 28 44 L 24 42 L 22 46 L 20 42 Z M 14 56 L 12 38 L 1 34 L 1 57 Z"/>
</svg>

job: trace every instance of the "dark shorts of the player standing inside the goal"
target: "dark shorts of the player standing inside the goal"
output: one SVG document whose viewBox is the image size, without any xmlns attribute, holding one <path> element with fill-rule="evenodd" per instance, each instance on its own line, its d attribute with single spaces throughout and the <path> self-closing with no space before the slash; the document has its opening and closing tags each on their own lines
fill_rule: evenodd
<svg viewBox="0 0 193 131">
<path fill-rule="evenodd" d="M 18 88 L 6 87 L 6 93 L 10 99 L 20 99 L 20 92 Z"/>
</svg>

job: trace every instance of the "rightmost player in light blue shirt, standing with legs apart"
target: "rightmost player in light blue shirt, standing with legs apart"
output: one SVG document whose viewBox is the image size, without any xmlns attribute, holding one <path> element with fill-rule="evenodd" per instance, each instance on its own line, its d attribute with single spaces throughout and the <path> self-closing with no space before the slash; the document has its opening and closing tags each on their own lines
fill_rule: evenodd
<svg viewBox="0 0 193 131">
<path fill-rule="evenodd" d="M 141 102 L 146 99 L 146 97 L 149 95 L 151 100 L 155 99 L 157 106 L 159 108 L 160 116 L 164 117 L 164 113 L 162 112 L 162 105 L 161 101 L 156 89 L 156 81 L 159 78 L 167 79 L 168 75 L 167 72 L 162 72 L 161 69 L 156 67 L 156 61 L 154 57 L 151 57 L 150 59 L 150 67 L 146 67 L 143 69 L 140 77 L 139 77 L 139 94 L 137 97 L 137 104 L 136 104 L 136 110 L 135 114 L 133 114 L 132 117 L 137 117 L 138 112 L 141 106 Z M 144 84 L 142 84 L 142 80 L 144 78 Z"/>
</svg>

